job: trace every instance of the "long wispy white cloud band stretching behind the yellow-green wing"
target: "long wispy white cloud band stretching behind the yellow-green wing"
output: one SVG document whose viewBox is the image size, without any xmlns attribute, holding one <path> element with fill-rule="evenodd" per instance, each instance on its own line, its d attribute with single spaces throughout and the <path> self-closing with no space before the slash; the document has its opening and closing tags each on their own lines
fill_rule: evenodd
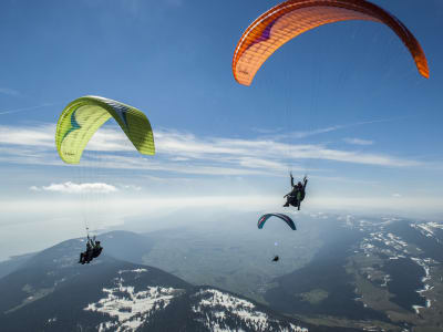
<svg viewBox="0 0 443 332">
<path fill-rule="evenodd" d="M 0 126 L 1 160 L 63 165 L 54 147 L 54 125 Z M 291 167 L 303 172 L 303 160 L 333 160 L 373 166 L 410 167 L 423 163 L 384 154 L 334 149 L 324 144 L 286 144 L 271 138 L 198 137 L 171 129 L 155 132 L 157 154 L 135 153 L 120 129 L 101 128 L 87 144 L 82 164 L 103 168 L 146 169 L 194 175 L 275 175 Z M 11 148 L 13 147 L 13 148 Z M 110 154 L 113 152 L 113 154 Z"/>
</svg>

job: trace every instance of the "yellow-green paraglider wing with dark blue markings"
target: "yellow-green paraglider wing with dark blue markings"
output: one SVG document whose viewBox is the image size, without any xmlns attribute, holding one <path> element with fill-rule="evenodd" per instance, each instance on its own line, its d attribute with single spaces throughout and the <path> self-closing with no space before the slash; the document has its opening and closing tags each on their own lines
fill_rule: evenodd
<svg viewBox="0 0 443 332">
<path fill-rule="evenodd" d="M 141 154 L 155 154 L 152 127 L 143 112 L 109 98 L 84 96 L 71 102 L 56 124 L 55 145 L 62 160 L 79 164 L 87 142 L 111 117 Z"/>
</svg>

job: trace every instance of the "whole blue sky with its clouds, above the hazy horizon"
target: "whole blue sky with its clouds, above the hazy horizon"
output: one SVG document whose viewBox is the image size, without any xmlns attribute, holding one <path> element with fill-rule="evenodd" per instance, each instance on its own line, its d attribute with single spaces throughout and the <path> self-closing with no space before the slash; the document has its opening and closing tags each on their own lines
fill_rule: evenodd
<svg viewBox="0 0 443 332">
<path fill-rule="evenodd" d="M 140 199 L 131 214 L 103 217 L 115 224 L 146 201 L 161 211 L 184 197 L 277 208 L 289 169 L 310 175 L 307 208 L 441 214 L 443 4 L 374 2 L 418 38 L 429 80 L 387 27 L 344 22 L 300 35 L 250 87 L 239 85 L 230 68 L 237 41 L 276 1 L 1 1 L 3 235 L 20 231 L 16 220 L 38 227 L 53 217 L 54 201 L 72 227 L 51 240 L 80 235 L 76 201 L 93 190 L 82 184 L 112 186 L 94 194 L 103 205 Z M 110 123 L 89 145 L 84 170 L 63 165 L 54 125 L 82 95 L 144 111 L 157 155 L 137 155 Z"/>
</svg>

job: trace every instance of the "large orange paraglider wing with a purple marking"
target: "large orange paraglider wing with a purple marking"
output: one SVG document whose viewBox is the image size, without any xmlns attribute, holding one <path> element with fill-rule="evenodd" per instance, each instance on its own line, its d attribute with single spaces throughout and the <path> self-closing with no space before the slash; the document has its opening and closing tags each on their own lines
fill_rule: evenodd
<svg viewBox="0 0 443 332">
<path fill-rule="evenodd" d="M 234 52 L 236 81 L 250 85 L 265 61 L 281 45 L 317 27 L 348 20 L 380 22 L 409 49 L 415 65 L 429 77 L 426 58 L 418 40 L 394 15 L 365 0 L 289 0 L 261 14 L 241 35 Z"/>
</svg>

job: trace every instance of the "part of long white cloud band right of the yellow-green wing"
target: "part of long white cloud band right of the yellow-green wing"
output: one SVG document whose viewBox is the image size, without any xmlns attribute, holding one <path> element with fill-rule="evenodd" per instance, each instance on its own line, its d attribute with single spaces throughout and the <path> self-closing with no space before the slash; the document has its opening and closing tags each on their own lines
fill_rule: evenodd
<svg viewBox="0 0 443 332">
<path fill-rule="evenodd" d="M 210 160 L 237 162 L 245 164 L 245 158 L 260 159 L 258 164 L 274 169 L 287 168 L 300 159 L 328 159 L 343 163 L 378 166 L 419 166 L 415 160 L 395 158 L 382 154 L 363 154 L 327 148 L 323 145 L 296 145 L 274 139 L 241 139 L 207 137 L 198 138 L 192 134 L 177 132 L 157 132 L 156 146 L 159 154 L 174 154 L 175 157 L 202 158 Z M 292 160 L 292 162 L 291 162 Z M 270 163 L 271 162 L 271 163 Z M 277 164 L 278 165 L 277 165 Z M 249 165 L 251 165 L 249 163 Z M 269 167 L 266 167 L 269 169 Z"/>
</svg>

